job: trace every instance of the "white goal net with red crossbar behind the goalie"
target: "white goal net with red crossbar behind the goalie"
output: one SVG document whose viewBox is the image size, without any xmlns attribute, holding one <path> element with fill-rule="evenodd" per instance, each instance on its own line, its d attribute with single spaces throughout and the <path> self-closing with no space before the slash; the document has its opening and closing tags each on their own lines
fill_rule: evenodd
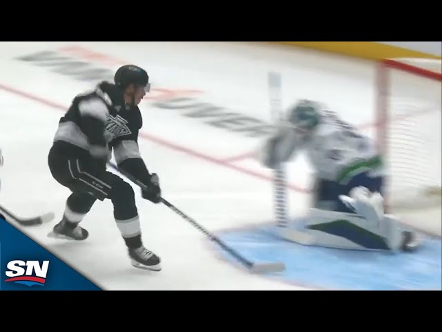
<svg viewBox="0 0 442 332">
<path fill-rule="evenodd" d="M 387 212 L 416 228 L 431 229 L 424 223 L 432 222 L 433 232 L 441 219 L 441 72 L 439 59 L 384 59 L 376 81 Z"/>
</svg>

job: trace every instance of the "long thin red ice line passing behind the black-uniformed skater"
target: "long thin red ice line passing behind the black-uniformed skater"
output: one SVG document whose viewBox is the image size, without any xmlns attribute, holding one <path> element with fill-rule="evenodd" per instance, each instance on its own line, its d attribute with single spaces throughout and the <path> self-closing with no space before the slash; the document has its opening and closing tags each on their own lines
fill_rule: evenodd
<svg viewBox="0 0 442 332">
<path fill-rule="evenodd" d="M 68 109 L 68 107 L 66 107 L 64 105 L 57 104 L 56 102 L 51 102 L 50 100 L 47 100 L 45 98 L 40 98 L 36 95 L 32 95 L 32 94 L 27 93 L 25 91 L 21 91 L 21 90 L 12 88 L 11 86 L 6 86 L 3 84 L 0 84 L 0 89 L 3 91 L 7 91 L 9 93 L 18 95 L 21 98 L 26 98 L 28 100 L 39 102 L 40 104 L 44 104 L 48 107 L 52 107 L 53 109 L 59 109 L 60 111 L 64 111 L 64 112 L 66 112 L 66 110 Z M 245 167 L 233 165 L 233 164 L 229 163 L 229 160 L 222 160 L 219 158 L 215 158 L 213 156 L 209 156 L 207 154 L 202 154 L 202 153 L 195 151 L 193 149 L 189 149 L 188 147 L 184 147 L 182 145 L 177 145 L 173 142 L 169 142 L 168 140 L 164 140 L 163 138 L 153 136 L 148 133 L 140 132 L 140 137 L 144 138 L 145 140 L 155 142 L 158 145 L 162 145 L 163 147 L 167 147 L 169 149 L 173 149 L 175 151 L 179 151 L 184 154 L 188 154 L 189 156 L 193 156 L 195 158 L 200 158 L 200 159 L 205 160 L 209 163 L 224 166 L 229 169 L 234 169 L 237 172 L 240 172 L 242 174 L 247 174 L 249 176 L 253 176 L 255 178 L 260 178 L 261 180 L 265 180 L 265 181 L 273 181 L 273 178 L 271 176 L 266 176 L 265 174 L 255 172 L 255 171 L 253 171 L 251 169 L 247 169 Z M 231 160 L 231 161 L 233 161 L 233 160 Z M 289 184 L 289 185 L 287 185 L 287 187 L 289 187 L 289 189 L 294 190 L 296 192 L 309 193 L 308 189 L 300 187 L 298 185 Z"/>
</svg>

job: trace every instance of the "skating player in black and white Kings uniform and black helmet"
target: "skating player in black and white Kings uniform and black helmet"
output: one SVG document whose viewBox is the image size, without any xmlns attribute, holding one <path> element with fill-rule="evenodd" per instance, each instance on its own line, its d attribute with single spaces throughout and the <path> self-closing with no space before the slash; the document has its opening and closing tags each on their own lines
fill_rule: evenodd
<svg viewBox="0 0 442 332">
<path fill-rule="evenodd" d="M 95 91 L 77 95 L 59 120 L 48 154 L 52 176 L 72 193 L 64 215 L 49 237 L 82 241 L 88 231 L 79 223 L 97 199 L 113 203 L 113 216 L 136 268 L 160 270 L 160 257 L 142 243 L 140 217 L 131 185 L 106 171 L 113 150 L 119 169 L 148 186 L 142 197 L 160 203 L 157 174 L 148 172 L 137 144 L 142 116 L 137 105 L 150 89 L 144 69 L 125 65 L 114 82 L 100 82 Z"/>
</svg>

